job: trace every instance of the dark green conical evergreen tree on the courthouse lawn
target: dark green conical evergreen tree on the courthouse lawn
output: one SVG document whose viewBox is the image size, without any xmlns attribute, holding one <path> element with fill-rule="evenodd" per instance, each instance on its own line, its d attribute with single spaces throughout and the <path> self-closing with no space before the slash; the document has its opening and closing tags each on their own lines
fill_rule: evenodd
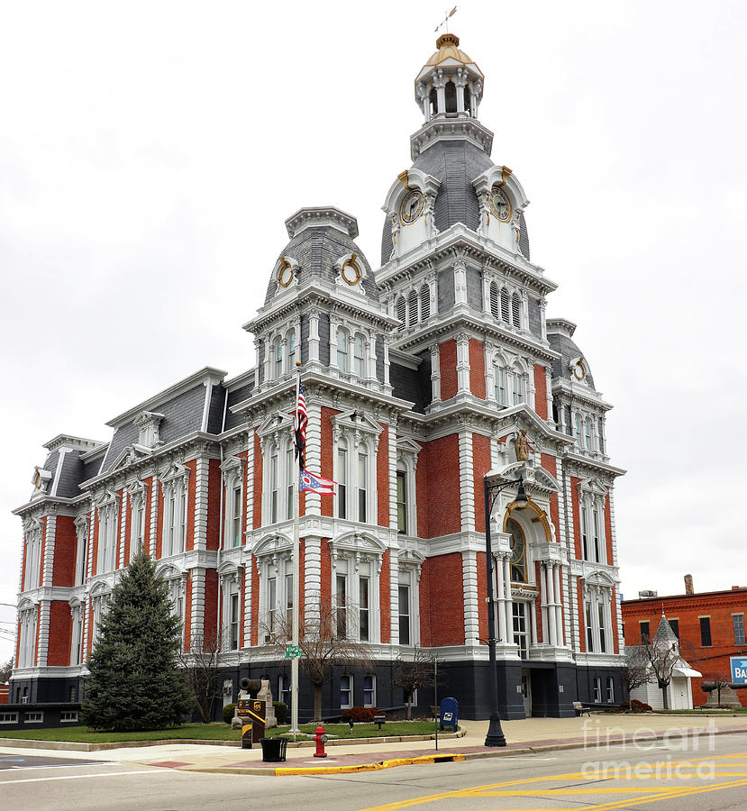
<svg viewBox="0 0 747 811">
<path fill-rule="evenodd" d="M 117 732 L 180 724 L 191 697 L 178 667 L 181 622 L 169 589 L 141 551 L 114 586 L 88 661 L 83 720 Z"/>
</svg>

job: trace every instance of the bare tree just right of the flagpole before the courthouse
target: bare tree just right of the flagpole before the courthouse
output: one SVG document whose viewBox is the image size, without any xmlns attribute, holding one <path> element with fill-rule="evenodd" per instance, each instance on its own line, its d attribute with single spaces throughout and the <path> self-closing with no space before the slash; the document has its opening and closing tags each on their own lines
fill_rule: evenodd
<svg viewBox="0 0 747 811">
<path fill-rule="evenodd" d="M 322 688 L 330 678 L 333 666 L 364 669 L 371 667 L 372 660 L 369 645 L 359 642 L 358 606 L 334 606 L 327 599 L 309 602 L 311 606 L 306 604 L 305 618 L 298 629 L 298 647 L 301 649 L 301 670 L 314 685 L 314 721 L 321 721 Z M 293 639 L 289 619 L 286 611 L 278 610 L 273 613 L 270 623 L 263 625 L 265 638 L 278 653 L 284 654 Z"/>
</svg>

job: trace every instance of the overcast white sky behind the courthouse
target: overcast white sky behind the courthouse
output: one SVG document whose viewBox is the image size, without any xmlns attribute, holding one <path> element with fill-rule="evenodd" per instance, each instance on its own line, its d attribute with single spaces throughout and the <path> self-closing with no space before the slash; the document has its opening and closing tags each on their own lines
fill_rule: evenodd
<svg viewBox="0 0 747 811">
<path fill-rule="evenodd" d="M 452 2 L 452 0 L 450 0 Z M 444 3 L 0 3 L 0 603 L 41 448 L 253 364 L 284 221 L 380 206 Z M 623 592 L 747 585 L 746 6 L 459 3 L 493 159 L 532 200 L 607 418 Z M 14 611 L 0 606 L 0 629 Z M 0 659 L 12 644 L 0 631 Z"/>
</svg>

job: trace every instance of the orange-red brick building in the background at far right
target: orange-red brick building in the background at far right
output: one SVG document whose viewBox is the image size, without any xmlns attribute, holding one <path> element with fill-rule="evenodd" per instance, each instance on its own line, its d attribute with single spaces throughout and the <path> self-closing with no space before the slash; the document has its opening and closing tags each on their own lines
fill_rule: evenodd
<svg viewBox="0 0 747 811">
<path fill-rule="evenodd" d="M 689 592 L 692 579 L 686 579 L 686 593 L 668 597 L 639 597 L 623 601 L 625 644 L 641 642 L 643 634 L 655 633 L 663 612 L 679 639 L 679 650 L 693 668 L 703 674 L 693 679 L 693 704 L 702 706 L 708 694 L 700 688 L 703 681 L 730 677 L 730 657 L 747 656 L 744 615 L 747 614 L 747 587 L 733 586 L 728 591 Z M 737 691 L 742 706 L 747 705 L 743 691 Z"/>
</svg>

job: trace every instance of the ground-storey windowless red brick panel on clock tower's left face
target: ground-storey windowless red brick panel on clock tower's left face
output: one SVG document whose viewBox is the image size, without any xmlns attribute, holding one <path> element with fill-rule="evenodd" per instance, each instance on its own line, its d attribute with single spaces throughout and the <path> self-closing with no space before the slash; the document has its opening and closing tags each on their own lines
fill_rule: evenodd
<svg viewBox="0 0 747 811">
<path fill-rule="evenodd" d="M 461 553 L 451 552 L 424 560 L 428 571 L 428 605 L 431 617 L 429 645 L 464 644 L 464 578 Z M 423 578 L 421 577 L 421 589 Z"/>
</svg>

